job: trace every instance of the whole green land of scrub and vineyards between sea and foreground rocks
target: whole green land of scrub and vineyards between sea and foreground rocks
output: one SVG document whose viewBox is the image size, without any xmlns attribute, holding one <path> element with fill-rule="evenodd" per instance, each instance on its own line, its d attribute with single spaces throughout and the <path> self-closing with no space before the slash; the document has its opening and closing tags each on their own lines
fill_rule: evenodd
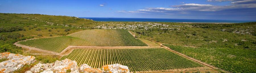
<svg viewBox="0 0 256 73">
<path fill-rule="evenodd" d="M 256 22 L 98 22 L 69 16 L 0 13 L 0 25 L 0 53 L 32 55 L 42 63 L 68 58 L 79 65 L 86 62 L 94 68 L 121 63 L 131 71 L 254 72 Z M 14 45 L 17 42 L 34 49 L 17 47 Z M 60 53 L 65 48 L 67 50 Z M 90 55 L 84 56 L 84 53 Z M 232 61 L 226 62 L 229 58 Z"/>
</svg>

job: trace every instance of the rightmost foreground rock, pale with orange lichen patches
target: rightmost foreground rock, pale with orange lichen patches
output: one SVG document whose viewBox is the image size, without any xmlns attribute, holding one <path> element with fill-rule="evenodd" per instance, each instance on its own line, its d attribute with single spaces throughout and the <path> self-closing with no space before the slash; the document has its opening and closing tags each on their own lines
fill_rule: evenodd
<svg viewBox="0 0 256 73">
<path fill-rule="evenodd" d="M 120 65 L 120 64 L 112 64 L 112 65 L 102 66 L 102 72 L 129 73 L 130 70 L 127 66 L 123 66 L 123 65 Z"/>
</svg>

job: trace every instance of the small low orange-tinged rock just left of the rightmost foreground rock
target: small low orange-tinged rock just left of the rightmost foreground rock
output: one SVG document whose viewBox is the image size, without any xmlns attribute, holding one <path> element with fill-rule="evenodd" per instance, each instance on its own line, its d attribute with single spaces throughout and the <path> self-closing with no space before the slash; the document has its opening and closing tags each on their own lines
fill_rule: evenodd
<svg viewBox="0 0 256 73">
<path fill-rule="evenodd" d="M 100 68 L 92 68 L 87 64 L 80 65 L 79 71 L 84 73 L 102 73 L 102 70 L 100 70 Z"/>
</svg>

